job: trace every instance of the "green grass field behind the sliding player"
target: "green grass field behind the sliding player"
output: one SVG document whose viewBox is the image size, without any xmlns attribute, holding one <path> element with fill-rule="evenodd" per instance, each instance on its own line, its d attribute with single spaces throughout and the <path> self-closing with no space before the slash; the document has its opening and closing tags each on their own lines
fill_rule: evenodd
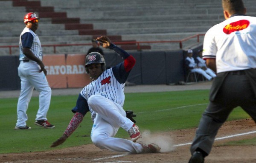
<svg viewBox="0 0 256 163">
<path fill-rule="evenodd" d="M 154 133 L 192 128 L 198 125 L 201 114 L 207 107 L 208 94 L 209 90 L 126 93 L 124 109 L 134 111 L 137 115 L 135 120 L 141 131 L 148 129 Z M 27 110 L 29 118 L 27 125 L 32 128 L 29 130 L 14 129 L 18 99 L 0 99 L 0 154 L 51 150 L 49 146 L 63 134 L 73 117 L 71 109 L 76 104 L 76 98 L 77 96 L 52 96 L 47 118 L 55 125 L 55 129 L 44 129 L 34 124 L 38 97 L 32 97 Z M 241 108 L 236 108 L 228 120 L 248 117 Z M 73 135 L 54 149 L 92 143 L 90 140 L 92 124 L 90 114 L 85 115 Z M 124 129 L 119 129 L 116 137 L 128 138 L 128 134 Z"/>
</svg>

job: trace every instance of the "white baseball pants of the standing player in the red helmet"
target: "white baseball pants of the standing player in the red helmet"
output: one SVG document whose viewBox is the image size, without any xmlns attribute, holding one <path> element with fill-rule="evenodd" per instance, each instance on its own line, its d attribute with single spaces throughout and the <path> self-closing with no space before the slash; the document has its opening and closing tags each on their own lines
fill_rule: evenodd
<svg viewBox="0 0 256 163">
<path fill-rule="evenodd" d="M 18 74 L 20 76 L 20 97 L 17 104 L 17 123 L 16 126 L 26 126 L 28 119 L 26 111 L 29 106 L 33 89 L 39 92 L 39 109 L 35 120 L 47 120 L 47 112 L 51 101 L 52 90 L 49 87 L 44 72 L 39 73 L 40 66 L 31 60 L 24 63 L 20 61 Z"/>
</svg>

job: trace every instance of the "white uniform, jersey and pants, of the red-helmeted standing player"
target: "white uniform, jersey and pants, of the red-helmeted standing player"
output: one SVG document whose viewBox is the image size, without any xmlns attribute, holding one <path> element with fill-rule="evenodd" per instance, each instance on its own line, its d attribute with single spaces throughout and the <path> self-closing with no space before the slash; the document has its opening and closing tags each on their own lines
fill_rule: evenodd
<svg viewBox="0 0 256 163">
<path fill-rule="evenodd" d="M 20 77 L 20 97 L 17 104 L 17 123 L 16 127 L 25 127 L 28 119 L 26 110 L 32 92 L 35 89 L 39 92 L 39 109 L 35 120 L 47 120 L 47 111 L 49 110 L 51 100 L 51 88 L 47 82 L 44 72 L 39 73 L 40 66 L 29 60 L 23 54 L 23 47 L 30 48 L 36 57 L 42 59 L 41 42 L 38 36 L 29 28 L 24 28 L 20 34 L 20 65 L 18 74 Z"/>
</svg>

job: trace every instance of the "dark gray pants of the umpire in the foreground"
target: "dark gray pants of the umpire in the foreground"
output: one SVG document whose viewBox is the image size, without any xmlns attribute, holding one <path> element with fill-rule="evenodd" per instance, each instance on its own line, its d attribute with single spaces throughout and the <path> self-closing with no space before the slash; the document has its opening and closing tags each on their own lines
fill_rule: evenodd
<svg viewBox="0 0 256 163">
<path fill-rule="evenodd" d="M 218 80 L 218 78 L 222 79 Z M 225 75 L 217 75 L 216 79 L 214 79 L 211 88 L 210 103 L 202 115 L 190 148 L 191 154 L 200 148 L 209 155 L 218 129 L 235 107 L 240 106 L 256 122 L 256 98 L 252 81 L 248 76 L 246 74 L 226 73 Z M 219 84 L 221 87 L 218 87 Z"/>
</svg>

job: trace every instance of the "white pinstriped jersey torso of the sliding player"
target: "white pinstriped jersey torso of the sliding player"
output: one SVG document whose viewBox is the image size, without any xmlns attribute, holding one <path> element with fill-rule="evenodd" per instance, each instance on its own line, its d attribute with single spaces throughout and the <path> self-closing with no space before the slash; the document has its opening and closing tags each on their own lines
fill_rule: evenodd
<svg viewBox="0 0 256 163">
<path fill-rule="evenodd" d="M 101 95 L 122 107 L 125 101 L 124 87 L 125 83 L 119 83 L 110 68 L 105 70 L 98 79 L 85 86 L 80 94 L 86 101 L 92 95 Z M 89 109 L 92 112 L 91 108 Z"/>
</svg>

